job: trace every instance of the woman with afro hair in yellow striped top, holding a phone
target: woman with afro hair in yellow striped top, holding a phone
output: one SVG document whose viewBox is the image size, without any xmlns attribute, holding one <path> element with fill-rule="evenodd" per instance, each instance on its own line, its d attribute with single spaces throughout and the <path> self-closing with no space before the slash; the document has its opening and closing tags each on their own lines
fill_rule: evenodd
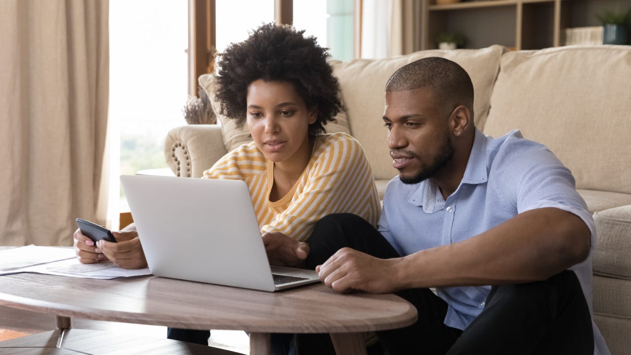
<svg viewBox="0 0 631 355">
<path fill-rule="evenodd" d="M 221 54 L 216 78 L 221 113 L 247 125 L 254 141 L 225 155 L 204 178 L 247 183 L 273 265 L 300 265 L 309 253 L 304 241 L 326 215 L 356 214 L 374 226 L 379 219 L 362 147 L 345 133 L 324 134 L 327 122 L 343 110 L 339 84 L 326 49 L 303 33 L 262 25 Z M 146 266 L 138 236 L 129 229 L 114 233 L 119 243 L 97 246 L 76 231 L 80 261 L 107 257 L 125 268 Z M 208 339 L 207 332 L 177 332 L 170 330 L 169 337 L 203 344 Z"/>
</svg>

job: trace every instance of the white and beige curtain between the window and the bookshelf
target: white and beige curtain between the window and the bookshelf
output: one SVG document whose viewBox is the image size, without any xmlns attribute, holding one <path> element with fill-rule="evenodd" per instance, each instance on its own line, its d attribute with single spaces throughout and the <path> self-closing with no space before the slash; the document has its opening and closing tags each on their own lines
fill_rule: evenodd
<svg viewBox="0 0 631 355">
<path fill-rule="evenodd" d="M 362 53 L 382 59 L 419 51 L 422 0 L 362 0 Z"/>
</svg>

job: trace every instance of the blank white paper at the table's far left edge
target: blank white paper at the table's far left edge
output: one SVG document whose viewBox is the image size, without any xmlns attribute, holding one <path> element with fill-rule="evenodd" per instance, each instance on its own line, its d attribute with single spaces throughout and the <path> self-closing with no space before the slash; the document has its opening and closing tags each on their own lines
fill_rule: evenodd
<svg viewBox="0 0 631 355">
<path fill-rule="evenodd" d="M 0 250 L 0 272 L 74 258 L 72 248 L 55 246 L 21 246 Z"/>
</svg>

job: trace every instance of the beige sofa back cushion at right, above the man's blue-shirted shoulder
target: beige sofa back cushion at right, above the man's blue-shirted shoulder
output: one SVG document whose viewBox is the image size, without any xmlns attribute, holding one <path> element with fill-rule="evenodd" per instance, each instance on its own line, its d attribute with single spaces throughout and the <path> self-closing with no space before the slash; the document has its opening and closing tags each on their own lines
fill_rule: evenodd
<svg viewBox="0 0 631 355">
<path fill-rule="evenodd" d="M 550 148 L 577 188 L 631 193 L 631 47 L 504 54 L 484 133 L 511 129 Z"/>
</svg>

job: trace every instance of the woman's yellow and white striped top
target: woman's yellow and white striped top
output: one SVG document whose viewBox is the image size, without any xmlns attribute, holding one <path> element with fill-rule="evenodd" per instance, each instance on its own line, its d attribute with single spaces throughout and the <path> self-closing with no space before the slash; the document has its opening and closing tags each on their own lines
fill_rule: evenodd
<svg viewBox="0 0 631 355">
<path fill-rule="evenodd" d="M 239 179 L 247 184 L 261 232 L 281 232 L 305 241 L 315 222 L 351 213 L 377 226 L 380 202 L 362 146 L 346 133 L 318 135 L 304 172 L 285 196 L 269 201 L 274 163 L 254 142 L 241 145 L 204 171 L 207 179 Z"/>
</svg>

